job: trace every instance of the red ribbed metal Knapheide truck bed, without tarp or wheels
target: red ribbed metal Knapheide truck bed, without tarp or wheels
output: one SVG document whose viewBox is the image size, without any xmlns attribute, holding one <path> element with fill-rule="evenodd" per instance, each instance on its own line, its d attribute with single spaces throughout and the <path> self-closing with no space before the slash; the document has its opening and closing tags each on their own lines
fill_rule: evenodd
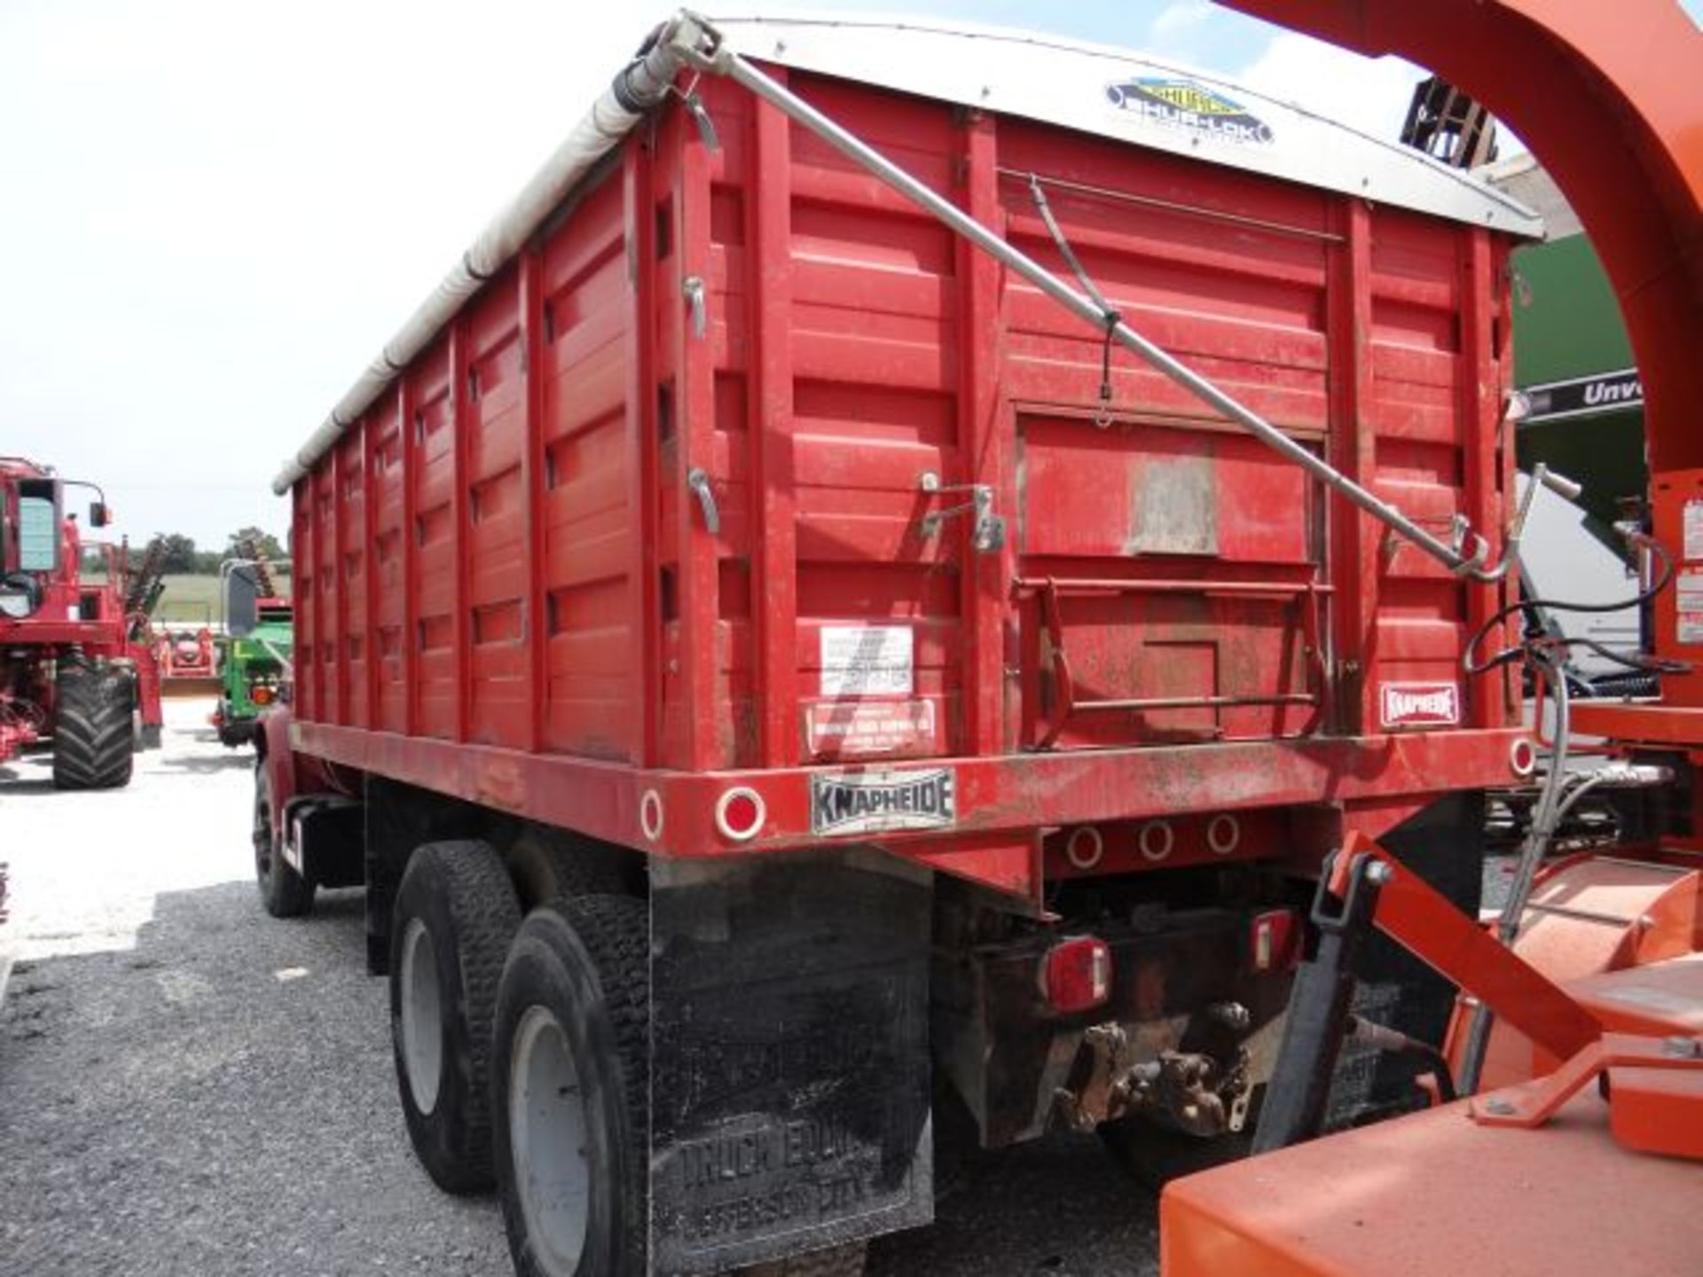
<svg viewBox="0 0 1703 1277">
<path fill-rule="evenodd" d="M 1063 269 L 1039 179 L 1136 329 L 1424 523 L 1502 523 L 1511 235 L 788 75 Z M 1497 591 L 1121 352 L 1097 421 L 1097 334 L 702 95 L 717 146 L 679 109 L 630 136 L 295 480 L 298 747 L 671 855 L 884 831 L 1020 892 L 1042 827 L 1177 817 L 1206 856 L 1221 812 L 1378 833 L 1507 775 L 1507 688 L 1458 673 Z M 901 761 L 949 770 L 858 792 Z"/>
</svg>

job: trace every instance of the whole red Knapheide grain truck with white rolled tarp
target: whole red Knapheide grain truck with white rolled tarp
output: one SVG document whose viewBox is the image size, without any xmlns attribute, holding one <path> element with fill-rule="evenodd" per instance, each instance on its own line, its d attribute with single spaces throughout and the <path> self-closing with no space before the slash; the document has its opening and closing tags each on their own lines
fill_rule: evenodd
<svg viewBox="0 0 1703 1277">
<path fill-rule="evenodd" d="M 364 885 L 519 1272 L 855 1270 L 947 1125 L 1233 1148 L 1322 858 L 1477 904 L 1538 230 L 1126 51 L 652 36 L 276 482 L 261 894 Z"/>
</svg>

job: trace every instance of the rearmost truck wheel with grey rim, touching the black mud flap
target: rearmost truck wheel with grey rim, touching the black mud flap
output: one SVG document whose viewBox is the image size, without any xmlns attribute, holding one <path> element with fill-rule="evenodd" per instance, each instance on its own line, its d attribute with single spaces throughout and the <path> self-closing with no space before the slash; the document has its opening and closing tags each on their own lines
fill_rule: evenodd
<svg viewBox="0 0 1703 1277">
<path fill-rule="evenodd" d="M 490 1073 L 518 1277 L 644 1277 L 649 1020 L 644 901 L 582 896 L 526 916 L 502 969 Z"/>
</svg>

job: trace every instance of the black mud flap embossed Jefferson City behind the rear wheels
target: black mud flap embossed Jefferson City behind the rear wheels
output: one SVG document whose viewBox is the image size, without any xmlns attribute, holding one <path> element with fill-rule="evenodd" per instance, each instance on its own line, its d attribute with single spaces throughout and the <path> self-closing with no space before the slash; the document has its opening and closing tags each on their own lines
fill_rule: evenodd
<svg viewBox="0 0 1703 1277">
<path fill-rule="evenodd" d="M 879 853 L 652 862 L 654 1274 L 933 1219 L 930 896 Z"/>
</svg>

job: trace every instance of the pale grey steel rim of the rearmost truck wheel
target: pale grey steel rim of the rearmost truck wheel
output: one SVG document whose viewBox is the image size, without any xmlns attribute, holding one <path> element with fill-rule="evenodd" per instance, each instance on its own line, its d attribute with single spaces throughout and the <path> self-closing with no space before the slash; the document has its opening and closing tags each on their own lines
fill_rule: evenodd
<svg viewBox="0 0 1703 1277">
<path fill-rule="evenodd" d="M 530 1006 L 514 1028 L 509 1146 L 533 1257 L 550 1277 L 579 1270 L 591 1223 L 589 1125 L 562 1022 Z"/>
</svg>

